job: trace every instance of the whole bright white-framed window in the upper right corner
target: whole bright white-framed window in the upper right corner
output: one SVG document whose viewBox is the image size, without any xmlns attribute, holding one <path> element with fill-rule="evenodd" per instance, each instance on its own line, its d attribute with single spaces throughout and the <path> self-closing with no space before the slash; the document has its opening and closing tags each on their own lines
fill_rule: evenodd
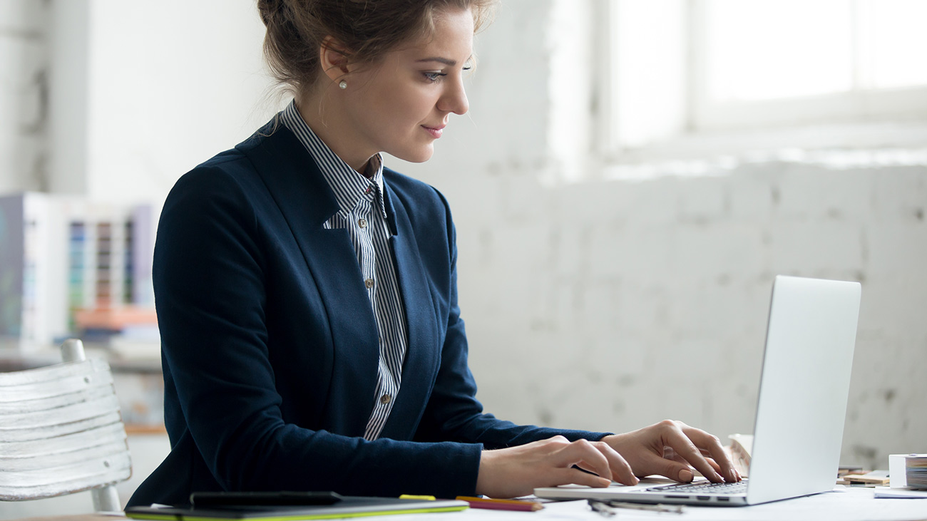
<svg viewBox="0 0 927 521">
<path fill-rule="evenodd" d="M 922 0 L 601 0 L 603 151 L 679 135 L 927 120 Z"/>
</svg>

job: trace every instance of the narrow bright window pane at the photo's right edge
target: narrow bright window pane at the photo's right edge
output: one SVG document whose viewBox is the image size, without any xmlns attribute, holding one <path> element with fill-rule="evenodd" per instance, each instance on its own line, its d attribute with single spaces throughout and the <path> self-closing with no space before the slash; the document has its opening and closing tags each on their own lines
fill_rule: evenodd
<svg viewBox="0 0 927 521">
<path fill-rule="evenodd" d="M 871 2 L 875 87 L 927 84 L 927 2 Z M 864 22 L 865 23 L 865 22 Z"/>
</svg>

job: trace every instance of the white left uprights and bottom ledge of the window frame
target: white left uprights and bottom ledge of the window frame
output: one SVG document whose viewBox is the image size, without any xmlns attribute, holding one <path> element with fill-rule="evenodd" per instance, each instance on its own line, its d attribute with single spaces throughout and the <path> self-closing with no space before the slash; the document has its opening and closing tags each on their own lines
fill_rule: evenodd
<svg viewBox="0 0 927 521">
<path fill-rule="evenodd" d="M 622 114 L 616 100 L 622 70 L 616 60 L 616 40 L 612 30 L 620 16 L 621 0 L 593 0 L 593 48 L 597 77 L 592 99 L 594 114 L 594 149 L 604 164 L 640 162 L 648 159 L 679 159 L 705 153 L 738 153 L 744 149 L 781 146 L 784 137 L 794 132 L 790 146 L 843 146 L 851 136 L 857 146 L 860 130 L 866 125 L 884 130 L 886 124 L 900 124 L 921 133 L 927 127 L 927 85 L 911 88 L 866 89 L 830 95 L 809 95 L 759 101 L 712 102 L 706 93 L 706 6 L 709 0 L 675 0 L 686 32 L 680 38 L 683 47 L 681 77 L 683 113 L 679 121 L 642 144 L 629 145 L 618 129 Z M 859 62 L 861 57 L 857 57 Z M 858 71 L 857 71 L 858 75 Z M 806 140 L 809 128 L 826 129 L 826 138 Z M 845 133 L 842 133 L 845 129 Z M 893 135 L 899 133 L 889 132 Z M 883 146 L 882 137 L 873 135 L 872 145 Z M 705 145 L 709 143 L 710 145 Z"/>
</svg>

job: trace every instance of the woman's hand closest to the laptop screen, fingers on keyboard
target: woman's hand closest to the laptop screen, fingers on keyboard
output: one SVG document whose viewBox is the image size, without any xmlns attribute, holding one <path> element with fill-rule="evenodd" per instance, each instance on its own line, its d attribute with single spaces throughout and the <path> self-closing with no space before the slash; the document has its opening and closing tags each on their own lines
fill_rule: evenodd
<svg viewBox="0 0 927 521">
<path fill-rule="evenodd" d="M 692 465 L 716 483 L 741 480 L 716 437 L 682 422 L 664 420 L 602 441 L 624 456 L 635 476 L 659 474 L 688 483 Z"/>
</svg>

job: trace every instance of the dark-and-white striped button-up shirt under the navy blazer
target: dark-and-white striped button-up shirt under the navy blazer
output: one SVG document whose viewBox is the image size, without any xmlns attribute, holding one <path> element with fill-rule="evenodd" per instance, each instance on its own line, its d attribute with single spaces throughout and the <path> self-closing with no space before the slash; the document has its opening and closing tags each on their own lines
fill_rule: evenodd
<svg viewBox="0 0 927 521">
<path fill-rule="evenodd" d="M 367 172 L 373 172 L 373 175 L 368 179 L 338 158 L 311 131 L 299 115 L 296 100 L 281 112 L 281 120 L 309 150 L 325 182 L 335 193 L 338 211 L 324 223 L 324 227 L 348 231 L 361 266 L 362 280 L 358 284 L 367 287 L 367 297 L 374 309 L 380 352 L 376 394 L 371 397 L 373 412 L 363 437 L 376 439 L 383 431 L 400 391 L 407 342 L 405 308 L 400 299 L 396 266 L 389 246 L 391 233 L 383 201 L 383 159 L 379 154 L 370 159 Z"/>
</svg>

